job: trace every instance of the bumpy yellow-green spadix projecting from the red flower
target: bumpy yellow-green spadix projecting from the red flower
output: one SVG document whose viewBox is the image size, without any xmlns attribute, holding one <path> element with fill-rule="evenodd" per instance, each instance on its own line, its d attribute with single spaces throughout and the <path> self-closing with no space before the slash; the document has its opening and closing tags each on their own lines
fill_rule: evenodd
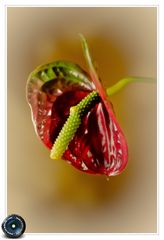
<svg viewBox="0 0 164 240">
<path fill-rule="evenodd" d="M 82 117 L 99 101 L 99 94 L 94 91 L 83 98 L 76 106 L 70 108 L 70 115 L 54 142 L 50 158 L 54 160 L 62 158 L 81 124 Z"/>
</svg>

